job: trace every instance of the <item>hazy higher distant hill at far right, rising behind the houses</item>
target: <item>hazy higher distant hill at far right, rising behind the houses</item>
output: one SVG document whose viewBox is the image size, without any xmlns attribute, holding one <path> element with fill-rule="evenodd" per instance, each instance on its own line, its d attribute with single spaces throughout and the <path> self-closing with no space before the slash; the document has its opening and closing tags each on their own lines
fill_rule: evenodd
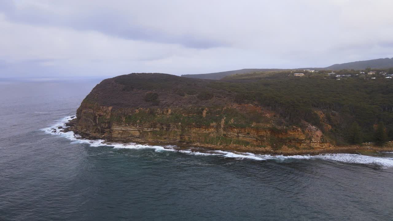
<svg viewBox="0 0 393 221">
<path fill-rule="evenodd" d="M 370 68 L 392 68 L 393 67 L 393 58 L 380 58 L 373 59 L 368 61 L 355 61 L 350 63 L 343 64 L 333 64 L 332 66 L 327 67 L 329 70 L 342 70 L 342 69 L 355 69 L 355 70 L 363 70 L 367 67 Z"/>
</svg>

